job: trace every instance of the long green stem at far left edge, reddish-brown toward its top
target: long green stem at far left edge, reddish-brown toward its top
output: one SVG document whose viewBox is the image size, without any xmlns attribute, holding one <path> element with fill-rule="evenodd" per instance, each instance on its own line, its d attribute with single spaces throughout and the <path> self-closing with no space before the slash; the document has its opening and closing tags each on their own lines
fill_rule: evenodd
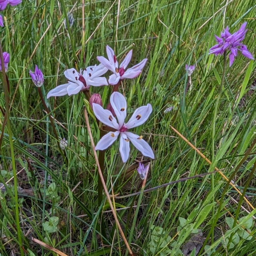
<svg viewBox="0 0 256 256">
<path fill-rule="evenodd" d="M 7 76 L 4 70 L 4 56 L 3 56 L 3 49 L 0 42 L 0 59 L 1 59 L 1 66 L 3 72 L 3 85 L 4 85 L 4 99 L 5 99 L 5 115 L 6 115 L 6 122 L 7 122 L 7 129 L 9 133 L 9 141 L 10 141 L 10 149 L 11 149 L 11 157 L 12 157 L 12 170 L 13 170 L 13 181 L 14 181 L 14 198 L 15 198 L 15 221 L 16 221 L 16 228 L 17 228 L 17 235 L 18 241 L 20 246 L 20 254 L 21 256 L 24 255 L 22 249 L 22 238 L 20 232 L 20 218 L 19 218 L 19 203 L 18 203 L 18 184 L 17 184 L 17 175 L 16 175 L 16 166 L 15 166 L 15 157 L 14 157 L 14 150 L 12 144 L 12 129 L 11 129 L 11 121 L 10 121 L 10 113 L 9 113 L 9 93 L 8 93 L 8 84 L 7 84 Z"/>
</svg>

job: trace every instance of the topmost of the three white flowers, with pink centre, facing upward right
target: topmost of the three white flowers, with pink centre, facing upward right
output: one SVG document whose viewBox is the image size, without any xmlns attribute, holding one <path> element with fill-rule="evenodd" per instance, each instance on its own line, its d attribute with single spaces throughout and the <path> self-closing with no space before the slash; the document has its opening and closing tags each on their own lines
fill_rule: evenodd
<svg viewBox="0 0 256 256">
<path fill-rule="evenodd" d="M 126 71 L 124 71 L 125 68 L 127 68 L 131 58 L 132 58 L 132 50 L 127 53 L 126 57 L 124 58 L 123 62 L 120 64 L 120 67 L 118 68 L 118 62 L 116 60 L 116 55 L 112 48 L 110 48 L 107 45 L 107 55 L 108 60 L 104 58 L 103 56 L 98 56 L 97 60 L 100 61 L 106 68 L 108 68 L 110 71 L 112 71 L 114 74 L 109 76 L 108 83 L 109 84 L 117 84 L 119 80 L 124 78 L 134 78 L 140 75 L 141 69 L 144 68 L 146 61 L 148 59 L 142 60 L 139 64 L 133 66 L 132 68 L 128 68 Z"/>
</svg>

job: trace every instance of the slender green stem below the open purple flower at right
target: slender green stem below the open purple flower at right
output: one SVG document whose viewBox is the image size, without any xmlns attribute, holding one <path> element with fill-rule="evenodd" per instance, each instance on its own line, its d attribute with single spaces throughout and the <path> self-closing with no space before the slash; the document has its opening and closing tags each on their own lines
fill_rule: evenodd
<svg viewBox="0 0 256 256">
<path fill-rule="evenodd" d="M 217 96 L 217 100 L 215 102 L 215 108 L 214 108 L 214 113 L 213 113 L 213 118 L 212 118 L 212 163 L 214 160 L 214 151 L 215 151 L 215 123 L 216 123 L 216 119 L 217 119 L 217 111 L 219 108 L 219 102 L 220 102 L 220 95 L 222 92 L 222 86 L 223 86 L 223 82 L 224 82 L 224 77 L 225 77 L 225 72 L 226 72 L 226 55 L 227 52 L 224 51 L 224 55 L 223 55 L 223 73 L 222 73 L 222 77 L 221 77 L 221 82 L 220 82 L 220 87 L 219 87 L 219 91 L 218 91 L 218 96 Z M 211 174 L 211 185 L 212 185 L 212 191 L 214 189 L 214 173 Z M 212 202 L 215 202 L 214 199 L 214 194 L 212 196 Z M 212 206 L 212 216 L 214 216 L 214 206 Z M 212 225 L 214 223 L 214 219 L 212 220 Z M 214 229 L 212 229 L 212 236 L 211 236 L 211 242 L 213 243 L 213 238 L 214 238 Z"/>
</svg>

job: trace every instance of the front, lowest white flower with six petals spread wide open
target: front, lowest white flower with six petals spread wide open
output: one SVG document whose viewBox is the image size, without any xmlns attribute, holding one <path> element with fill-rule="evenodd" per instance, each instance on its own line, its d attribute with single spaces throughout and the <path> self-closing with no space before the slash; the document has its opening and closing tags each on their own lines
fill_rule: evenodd
<svg viewBox="0 0 256 256">
<path fill-rule="evenodd" d="M 130 120 L 125 124 L 126 100 L 124 96 L 119 92 L 113 92 L 110 96 L 110 102 L 116 113 L 118 123 L 109 110 L 103 109 L 99 104 L 92 103 L 94 114 L 100 122 L 116 129 L 116 132 L 108 132 L 104 135 L 96 145 L 95 149 L 104 150 L 108 148 L 114 143 L 120 134 L 119 151 L 123 162 L 128 160 L 130 154 L 130 141 L 144 156 L 149 156 L 154 159 L 155 156 L 153 150 L 150 148 L 148 143 L 142 139 L 142 136 L 136 135 L 132 132 L 127 132 L 128 129 L 139 126 L 147 121 L 150 113 L 152 112 L 151 105 L 148 104 L 147 106 L 137 108 L 132 114 Z"/>
</svg>

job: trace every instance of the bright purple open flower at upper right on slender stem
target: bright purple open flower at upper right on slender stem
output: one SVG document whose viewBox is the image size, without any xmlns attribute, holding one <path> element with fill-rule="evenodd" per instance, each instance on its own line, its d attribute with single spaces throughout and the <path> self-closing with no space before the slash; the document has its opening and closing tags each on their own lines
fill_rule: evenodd
<svg viewBox="0 0 256 256">
<path fill-rule="evenodd" d="M 247 32 L 247 29 L 245 29 L 246 24 L 247 22 L 244 22 L 241 28 L 239 28 L 234 34 L 231 34 L 227 27 L 223 32 L 220 33 L 220 37 L 214 35 L 218 44 L 210 48 L 209 54 L 214 53 L 215 56 L 218 54 L 222 55 L 225 51 L 230 50 L 228 55 L 229 67 L 231 67 L 233 64 L 234 58 L 237 56 L 237 51 L 241 51 L 246 58 L 254 60 L 252 54 L 247 50 L 245 44 L 242 44 Z"/>
</svg>

